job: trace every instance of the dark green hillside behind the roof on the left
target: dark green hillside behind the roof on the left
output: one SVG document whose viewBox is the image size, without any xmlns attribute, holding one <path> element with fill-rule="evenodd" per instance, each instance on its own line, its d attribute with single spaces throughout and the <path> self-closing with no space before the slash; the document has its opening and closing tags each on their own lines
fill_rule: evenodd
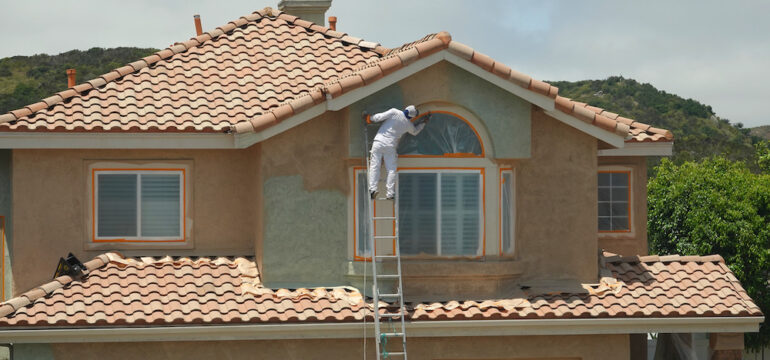
<svg viewBox="0 0 770 360">
<path fill-rule="evenodd" d="M 0 114 L 15 110 L 67 88 L 66 70 L 77 70 L 82 83 L 158 50 L 121 47 L 72 50 L 58 55 L 13 56 L 0 59 Z"/>
</svg>

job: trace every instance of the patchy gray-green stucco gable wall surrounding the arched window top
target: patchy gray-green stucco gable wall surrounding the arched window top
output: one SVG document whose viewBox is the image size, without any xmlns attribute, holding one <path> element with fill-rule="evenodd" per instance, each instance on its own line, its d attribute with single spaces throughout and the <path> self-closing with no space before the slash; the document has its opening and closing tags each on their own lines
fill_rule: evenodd
<svg viewBox="0 0 770 360">
<path fill-rule="evenodd" d="M 362 111 L 373 113 L 432 102 L 461 106 L 479 119 L 484 127 L 479 131 L 491 136 L 491 144 L 485 144 L 489 157 L 529 157 L 531 105 L 446 62 L 430 66 L 351 105 L 349 155 L 361 157 L 363 153 Z"/>
</svg>

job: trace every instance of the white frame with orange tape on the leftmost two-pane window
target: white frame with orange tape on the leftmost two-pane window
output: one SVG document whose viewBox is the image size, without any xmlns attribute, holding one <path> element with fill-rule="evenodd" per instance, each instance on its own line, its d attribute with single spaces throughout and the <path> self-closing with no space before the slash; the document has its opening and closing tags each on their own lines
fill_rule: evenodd
<svg viewBox="0 0 770 360">
<path fill-rule="evenodd" d="M 99 175 L 108 174 L 121 174 L 121 175 L 136 175 L 136 236 L 99 236 Z M 142 232 L 142 177 L 141 175 L 179 175 L 179 236 L 141 236 Z M 109 242 L 109 241 L 126 241 L 126 242 L 183 242 L 185 241 L 185 181 L 186 172 L 184 169 L 137 169 L 137 170 L 110 170 L 110 169 L 94 169 L 93 170 L 93 241 L 94 242 Z"/>
</svg>

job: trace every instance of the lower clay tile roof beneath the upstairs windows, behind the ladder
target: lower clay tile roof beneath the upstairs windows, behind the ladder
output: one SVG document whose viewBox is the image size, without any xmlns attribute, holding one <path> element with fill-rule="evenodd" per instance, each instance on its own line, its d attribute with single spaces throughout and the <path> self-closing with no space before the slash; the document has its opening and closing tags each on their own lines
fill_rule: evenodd
<svg viewBox="0 0 770 360">
<path fill-rule="evenodd" d="M 372 304 L 354 288 L 268 289 L 252 258 L 124 258 L 87 262 L 0 303 L 11 327 L 357 322 Z M 600 257 L 611 291 L 410 304 L 409 320 L 762 316 L 719 256 Z M 610 280 L 607 280 L 610 279 Z M 621 284 L 622 286 L 619 286 Z M 385 310 L 382 310 L 385 311 Z"/>
</svg>

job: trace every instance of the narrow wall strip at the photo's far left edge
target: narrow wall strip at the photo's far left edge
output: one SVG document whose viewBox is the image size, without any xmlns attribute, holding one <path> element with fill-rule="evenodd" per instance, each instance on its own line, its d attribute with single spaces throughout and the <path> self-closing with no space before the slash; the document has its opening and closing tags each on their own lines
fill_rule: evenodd
<svg viewBox="0 0 770 360">
<path fill-rule="evenodd" d="M 0 149 L 0 222 L 5 224 L 5 243 L 2 244 L 0 254 L 4 257 L 3 268 L 0 269 L 0 281 L 3 282 L 4 294 L 0 294 L 0 301 L 11 298 L 11 254 L 10 245 L 13 243 L 11 236 L 11 150 Z M 0 223 L 0 226 L 2 224 Z M 0 234 L 0 237 L 3 234 Z M 2 241 L 2 239 L 0 239 Z M 3 298 L 2 295 L 5 297 Z"/>
</svg>

